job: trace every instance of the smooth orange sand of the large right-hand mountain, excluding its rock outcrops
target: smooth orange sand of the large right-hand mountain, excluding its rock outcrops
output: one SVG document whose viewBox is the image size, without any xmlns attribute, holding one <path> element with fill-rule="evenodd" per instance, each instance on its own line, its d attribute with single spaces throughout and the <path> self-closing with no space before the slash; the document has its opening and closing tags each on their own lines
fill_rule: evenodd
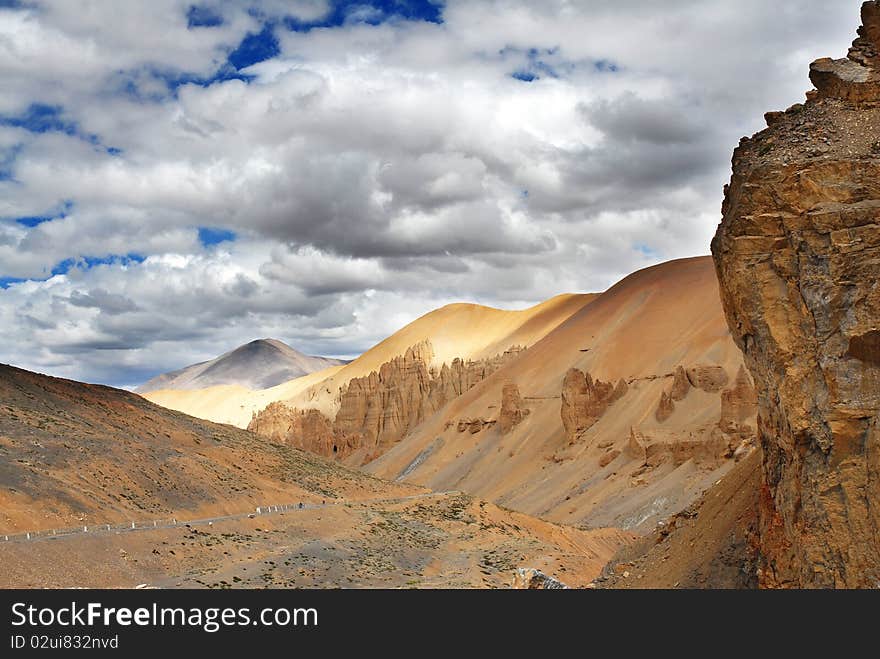
<svg viewBox="0 0 880 659">
<path fill-rule="evenodd" d="M 627 277 L 367 469 L 385 478 L 409 469 L 410 482 L 460 489 L 556 521 L 646 530 L 730 467 L 687 461 L 634 474 L 640 463 L 624 451 L 631 427 L 675 438 L 707 433 L 717 422 L 719 395 L 699 390 L 691 390 L 665 423 L 654 418 L 671 382 L 665 376 L 678 364 L 697 363 L 720 364 L 731 379 L 742 363 L 709 257 Z M 606 381 L 631 381 L 629 393 L 573 446 L 560 419 L 561 384 L 570 367 Z M 457 432 L 458 419 L 497 418 L 505 382 L 515 382 L 526 398 L 526 420 L 506 436 L 497 426 L 476 435 Z M 600 458 L 614 450 L 621 455 L 600 467 Z"/>
</svg>

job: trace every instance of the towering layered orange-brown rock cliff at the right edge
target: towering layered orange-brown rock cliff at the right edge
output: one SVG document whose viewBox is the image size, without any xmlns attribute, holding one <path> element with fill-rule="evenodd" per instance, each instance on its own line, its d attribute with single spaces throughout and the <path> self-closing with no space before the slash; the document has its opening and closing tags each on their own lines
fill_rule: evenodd
<svg viewBox="0 0 880 659">
<path fill-rule="evenodd" d="M 880 586 L 880 3 L 862 17 L 740 143 L 712 242 L 758 392 L 761 586 Z"/>
</svg>

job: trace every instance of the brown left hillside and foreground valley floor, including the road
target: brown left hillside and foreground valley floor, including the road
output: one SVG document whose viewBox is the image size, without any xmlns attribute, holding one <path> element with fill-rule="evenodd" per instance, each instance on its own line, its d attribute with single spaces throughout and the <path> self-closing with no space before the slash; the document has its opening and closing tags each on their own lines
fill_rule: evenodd
<svg viewBox="0 0 880 659">
<path fill-rule="evenodd" d="M 583 586 L 632 539 L 381 481 L 129 392 L 8 366 L 0 511 L 0 587 L 509 587 L 517 568 Z"/>
</svg>

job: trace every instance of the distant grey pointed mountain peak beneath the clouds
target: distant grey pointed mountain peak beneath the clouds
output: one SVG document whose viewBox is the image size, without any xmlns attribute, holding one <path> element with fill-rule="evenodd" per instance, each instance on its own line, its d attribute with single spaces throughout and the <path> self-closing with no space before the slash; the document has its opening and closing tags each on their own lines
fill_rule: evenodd
<svg viewBox="0 0 880 659">
<path fill-rule="evenodd" d="M 257 339 L 216 359 L 158 375 L 135 391 L 145 394 L 163 389 L 192 390 L 218 385 L 268 389 L 346 363 L 330 357 L 304 355 L 277 339 Z"/>
</svg>

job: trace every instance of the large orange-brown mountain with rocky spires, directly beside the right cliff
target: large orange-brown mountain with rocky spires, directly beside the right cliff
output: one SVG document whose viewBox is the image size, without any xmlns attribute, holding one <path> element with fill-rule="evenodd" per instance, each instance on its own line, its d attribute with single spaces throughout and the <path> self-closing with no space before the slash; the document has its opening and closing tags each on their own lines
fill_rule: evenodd
<svg viewBox="0 0 880 659">
<path fill-rule="evenodd" d="M 665 263 L 600 294 L 365 469 L 561 523 L 647 532 L 753 442 L 754 407 L 730 404 L 748 400 L 742 363 L 711 259 Z M 656 418 L 673 390 L 671 414 Z"/>
</svg>

